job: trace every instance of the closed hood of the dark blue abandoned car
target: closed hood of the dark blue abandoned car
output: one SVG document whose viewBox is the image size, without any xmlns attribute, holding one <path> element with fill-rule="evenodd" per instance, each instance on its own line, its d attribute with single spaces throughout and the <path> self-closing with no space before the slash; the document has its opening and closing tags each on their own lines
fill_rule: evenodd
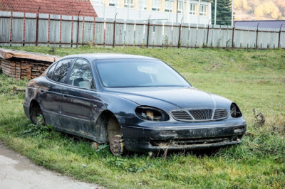
<svg viewBox="0 0 285 189">
<path fill-rule="evenodd" d="M 165 109 L 227 108 L 230 101 L 194 87 L 135 87 L 108 90 L 137 104 Z"/>
</svg>

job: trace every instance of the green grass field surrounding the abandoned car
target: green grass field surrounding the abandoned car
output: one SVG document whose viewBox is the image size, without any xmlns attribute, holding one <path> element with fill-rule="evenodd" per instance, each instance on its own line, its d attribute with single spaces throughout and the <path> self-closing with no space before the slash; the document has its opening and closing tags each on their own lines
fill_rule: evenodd
<svg viewBox="0 0 285 189">
<path fill-rule="evenodd" d="M 131 53 L 160 58 L 200 90 L 232 99 L 247 121 L 239 146 L 214 153 L 113 157 L 88 141 L 43 128 L 25 117 L 27 81 L 0 74 L 0 140 L 45 166 L 108 188 L 285 188 L 285 51 L 145 48 L 35 48 L 53 55 Z M 260 128 L 253 109 L 266 119 Z M 85 165 L 85 168 L 84 166 Z"/>
</svg>

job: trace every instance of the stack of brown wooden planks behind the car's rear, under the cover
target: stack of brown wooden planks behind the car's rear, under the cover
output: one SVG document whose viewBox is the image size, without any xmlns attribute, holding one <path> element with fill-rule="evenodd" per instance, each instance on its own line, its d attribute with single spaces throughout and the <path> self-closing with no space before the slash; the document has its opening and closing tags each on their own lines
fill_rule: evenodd
<svg viewBox="0 0 285 189">
<path fill-rule="evenodd" d="M 43 62 L 39 60 L 28 60 L 21 58 L 11 58 L 9 60 L 0 59 L 0 68 L 5 75 L 16 78 L 16 80 L 24 80 L 25 77 L 31 80 L 40 76 L 50 62 Z"/>
</svg>

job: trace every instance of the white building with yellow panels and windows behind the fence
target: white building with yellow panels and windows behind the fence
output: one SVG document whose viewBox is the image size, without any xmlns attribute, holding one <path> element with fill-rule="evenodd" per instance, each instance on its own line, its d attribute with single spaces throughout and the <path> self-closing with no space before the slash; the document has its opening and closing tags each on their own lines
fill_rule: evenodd
<svg viewBox="0 0 285 189">
<path fill-rule="evenodd" d="M 90 0 L 99 18 L 208 24 L 210 0 Z"/>
</svg>

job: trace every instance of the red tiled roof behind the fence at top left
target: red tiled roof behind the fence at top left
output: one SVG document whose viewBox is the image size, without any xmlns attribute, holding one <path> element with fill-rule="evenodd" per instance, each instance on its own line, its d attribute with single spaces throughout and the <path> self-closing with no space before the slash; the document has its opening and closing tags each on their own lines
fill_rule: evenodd
<svg viewBox="0 0 285 189">
<path fill-rule="evenodd" d="M 88 0 L 0 0 L 0 11 L 97 17 Z"/>
</svg>

